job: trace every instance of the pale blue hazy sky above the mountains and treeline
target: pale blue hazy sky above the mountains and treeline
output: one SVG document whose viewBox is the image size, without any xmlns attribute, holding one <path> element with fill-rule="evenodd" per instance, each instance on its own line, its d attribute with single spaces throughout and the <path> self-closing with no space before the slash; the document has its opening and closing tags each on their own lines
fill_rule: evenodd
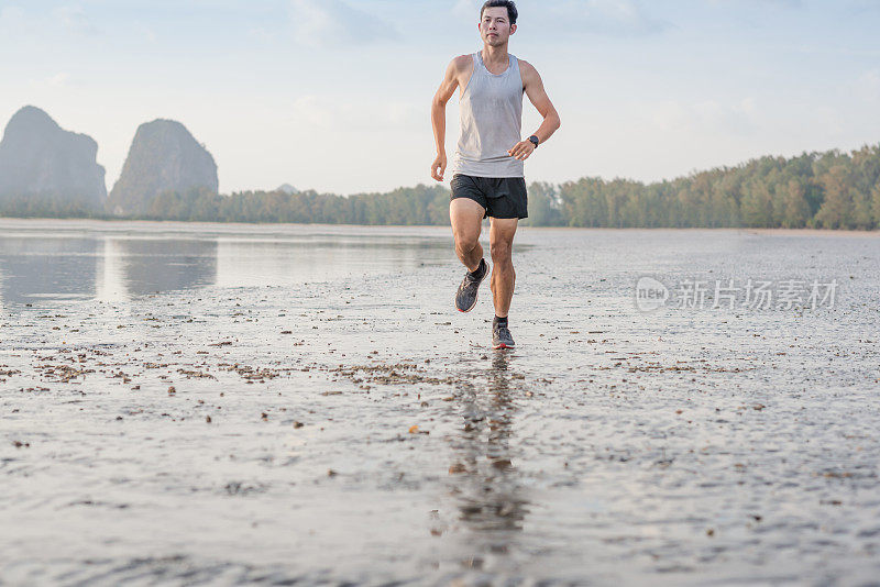
<svg viewBox="0 0 880 587">
<path fill-rule="evenodd" d="M 108 189 L 139 124 L 184 123 L 220 190 L 431 184 L 430 102 L 477 0 L 0 0 L 0 125 L 92 136 Z M 880 143 L 880 0 L 519 0 L 510 52 L 562 128 L 528 181 L 652 181 Z M 522 135 L 540 117 L 524 108 Z M 447 153 L 458 136 L 448 107 Z M 447 174 L 447 181 L 451 174 Z"/>
</svg>

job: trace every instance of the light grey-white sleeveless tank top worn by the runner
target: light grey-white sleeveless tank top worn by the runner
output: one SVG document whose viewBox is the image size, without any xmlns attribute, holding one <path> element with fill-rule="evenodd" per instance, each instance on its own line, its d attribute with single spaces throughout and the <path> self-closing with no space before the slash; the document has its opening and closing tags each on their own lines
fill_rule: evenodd
<svg viewBox="0 0 880 587">
<path fill-rule="evenodd" d="M 507 154 L 521 139 L 522 78 L 519 62 L 509 55 L 507 69 L 495 75 L 472 55 L 474 73 L 459 106 L 455 171 L 476 177 L 524 177 L 524 165 Z"/>
</svg>

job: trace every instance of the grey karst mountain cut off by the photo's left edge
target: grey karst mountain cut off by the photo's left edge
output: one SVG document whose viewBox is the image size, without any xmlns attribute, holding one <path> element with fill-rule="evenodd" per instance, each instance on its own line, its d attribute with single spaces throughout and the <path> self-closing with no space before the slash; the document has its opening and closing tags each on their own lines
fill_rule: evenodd
<svg viewBox="0 0 880 587">
<path fill-rule="evenodd" d="M 76 202 L 100 209 L 107 200 L 105 169 L 90 136 L 62 129 L 43 110 L 25 106 L 0 141 L 0 201 Z"/>
</svg>

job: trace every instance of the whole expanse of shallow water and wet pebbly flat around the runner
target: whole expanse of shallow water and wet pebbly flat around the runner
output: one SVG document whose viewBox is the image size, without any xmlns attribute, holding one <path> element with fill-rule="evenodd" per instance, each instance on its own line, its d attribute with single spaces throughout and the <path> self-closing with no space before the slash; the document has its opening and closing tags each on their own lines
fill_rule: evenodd
<svg viewBox="0 0 880 587">
<path fill-rule="evenodd" d="M 0 584 L 871 584 L 879 245 L 521 229 L 495 352 L 448 229 L 0 221 Z"/>
</svg>

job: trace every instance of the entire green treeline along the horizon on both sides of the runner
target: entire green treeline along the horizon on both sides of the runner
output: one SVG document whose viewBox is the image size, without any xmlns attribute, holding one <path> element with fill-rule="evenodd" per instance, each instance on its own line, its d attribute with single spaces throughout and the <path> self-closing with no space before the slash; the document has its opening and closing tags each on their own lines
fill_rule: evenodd
<svg viewBox="0 0 880 587">
<path fill-rule="evenodd" d="M 42 203 L 41 203 L 42 202 Z M 0 201 L 16 217 L 107 214 L 75 203 Z M 326 224 L 448 224 L 449 191 L 419 185 L 342 197 L 316 191 L 166 192 L 141 219 Z M 880 228 L 880 145 L 762 157 L 645 185 L 583 178 L 529 186 L 528 224 L 595 228 Z"/>
</svg>

